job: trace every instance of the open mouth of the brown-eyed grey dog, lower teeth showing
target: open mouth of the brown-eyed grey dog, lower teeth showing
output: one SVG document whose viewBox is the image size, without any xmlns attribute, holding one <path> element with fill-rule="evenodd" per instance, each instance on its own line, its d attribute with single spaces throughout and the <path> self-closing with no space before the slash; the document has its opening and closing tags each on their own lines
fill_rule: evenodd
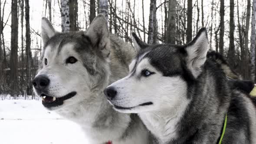
<svg viewBox="0 0 256 144">
<path fill-rule="evenodd" d="M 67 95 L 64 95 L 60 98 L 56 98 L 56 97 L 53 97 L 53 96 L 41 94 L 42 104 L 46 108 L 56 107 L 56 106 L 62 105 L 63 101 L 65 101 L 69 98 L 72 98 L 75 95 L 76 95 L 76 92 L 70 92 Z"/>
</svg>

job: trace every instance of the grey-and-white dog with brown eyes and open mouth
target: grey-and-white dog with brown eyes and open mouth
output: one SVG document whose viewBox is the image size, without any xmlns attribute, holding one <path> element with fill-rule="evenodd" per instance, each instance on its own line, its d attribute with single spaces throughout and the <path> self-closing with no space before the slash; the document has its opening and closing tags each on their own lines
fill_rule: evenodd
<svg viewBox="0 0 256 144">
<path fill-rule="evenodd" d="M 90 144 L 150 143 L 138 115 L 115 111 L 104 96 L 104 88 L 128 74 L 135 49 L 108 33 L 103 15 L 86 31 L 70 33 L 56 32 L 42 18 L 42 38 L 33 89 L 44 107 L 78 123 Z"/>
</svg>

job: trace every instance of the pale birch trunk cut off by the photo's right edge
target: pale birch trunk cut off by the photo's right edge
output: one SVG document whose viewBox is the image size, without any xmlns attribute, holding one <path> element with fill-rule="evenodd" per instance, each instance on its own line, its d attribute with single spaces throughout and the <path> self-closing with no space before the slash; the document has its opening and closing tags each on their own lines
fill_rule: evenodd
<svg viewBox="0 0 256 144">
<path fill-rule="evenodd" d="M 256 72 L 256 69 L 255 69 L 255 64 L 256 64 L 256 61 L 255 61 L 255 14 L 256 14 L 256 0 L 253 0 L 253 10 L 252 10 L 252 21 L 251 21 L 251 49 L 250 49 L 250 60 L 251 60 L 251 65 L 250 65 L 250 70 L 251 70 L 251 79 L 256 81 L 255 79 L 255 72 Z"/>
</svg>

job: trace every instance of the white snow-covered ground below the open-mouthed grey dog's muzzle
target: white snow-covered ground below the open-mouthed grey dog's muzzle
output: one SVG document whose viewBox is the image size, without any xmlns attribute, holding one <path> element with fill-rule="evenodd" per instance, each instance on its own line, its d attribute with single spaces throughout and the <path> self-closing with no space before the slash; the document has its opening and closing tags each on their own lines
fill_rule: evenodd
<svg viewBox="0 0 256 144">
<path fill-rule="evenodd" d="M 0 144 L 88 144 L 79 126 L 36 100 L 0 101 Z"/>
</svg>

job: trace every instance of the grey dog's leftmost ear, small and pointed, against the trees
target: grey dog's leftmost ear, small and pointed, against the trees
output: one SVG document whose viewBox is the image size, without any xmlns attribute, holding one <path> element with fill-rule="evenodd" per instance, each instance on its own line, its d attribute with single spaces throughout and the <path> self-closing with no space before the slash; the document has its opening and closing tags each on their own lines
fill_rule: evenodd
<svg viewBox="0 0 256 144">
<path fill-rule="evenodd" d="M 43 44 L 46 44 L 48 40 L 56 34 L 56 31 L 53 28 L 52 23 L 46 17 L 42 17 L 41 30 Z"/>
</svg>

